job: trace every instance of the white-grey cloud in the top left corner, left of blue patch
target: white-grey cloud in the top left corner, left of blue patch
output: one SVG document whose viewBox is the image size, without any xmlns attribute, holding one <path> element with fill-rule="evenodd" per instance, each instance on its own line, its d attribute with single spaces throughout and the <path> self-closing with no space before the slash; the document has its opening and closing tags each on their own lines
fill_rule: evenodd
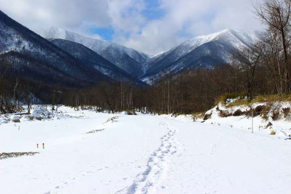
<svg viewBox="0 0 291 194">
<path fill-rule="evenodd" d="M 0 0 L 0 8 L 41 35 L 51 26 L 84 34 L 91 26 L 106 27 L 111 22 L 106 0 Z"/>
</svg>

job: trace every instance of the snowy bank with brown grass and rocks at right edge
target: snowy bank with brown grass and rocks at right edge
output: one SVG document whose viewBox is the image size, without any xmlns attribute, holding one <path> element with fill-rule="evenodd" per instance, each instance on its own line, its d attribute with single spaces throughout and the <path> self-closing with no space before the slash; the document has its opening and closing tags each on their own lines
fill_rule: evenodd
<svg viewBox="0 0 291 194">
<path fill-rule="evenodd" d="M 291 138 L 290 110 L 290 102 L 254 103 L 250 106 L 233 107 L 219 103 L 213 109 L 206 111 L 202 122 L 248 130 L 251 130 L 253 126 L 254 131 L 262 130 L 265 134 L 289 139 Z"/>
</svg>

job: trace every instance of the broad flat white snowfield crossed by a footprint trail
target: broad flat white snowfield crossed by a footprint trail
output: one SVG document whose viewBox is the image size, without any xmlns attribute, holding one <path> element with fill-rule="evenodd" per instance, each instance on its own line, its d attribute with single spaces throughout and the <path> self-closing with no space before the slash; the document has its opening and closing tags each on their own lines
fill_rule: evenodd
<svg viewBox="0 0 291 194">
<path fill-rule="evenodd" d="M 267 129 L 251 133 L 250 119 L 240 128 L 182 116 L 58 111 L 0 125 L 0 153 L 38 152 L 0 160 L 1 193 L 291 193 L 291 140 Z"/>
</svg>

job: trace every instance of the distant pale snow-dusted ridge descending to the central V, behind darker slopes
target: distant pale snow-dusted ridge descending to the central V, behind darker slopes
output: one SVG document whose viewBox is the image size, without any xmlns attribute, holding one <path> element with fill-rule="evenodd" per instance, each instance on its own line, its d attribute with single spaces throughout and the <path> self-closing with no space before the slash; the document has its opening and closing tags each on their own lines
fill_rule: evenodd
<svg viewBox="0 0 291 194">
<path fill-rule="evenodd" d="M 140 77 L 144 74 L 142 64 L 146 63 L 149 59 L 148 55 L 135 51 L 134 49 L 108 41 L 87 38 L 61 28 L 50 28 L 45 37 L 80 43 L 135 77 Z"/>
</svg>

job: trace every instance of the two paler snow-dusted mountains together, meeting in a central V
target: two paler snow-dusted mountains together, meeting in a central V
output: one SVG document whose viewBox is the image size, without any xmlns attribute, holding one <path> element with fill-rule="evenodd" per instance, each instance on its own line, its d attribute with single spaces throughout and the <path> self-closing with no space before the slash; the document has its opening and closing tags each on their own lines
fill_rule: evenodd
<svg viewBox="0 0 291 194">
<path fill-rule="evenodd" d="M 259 39 L 259 35 L 225 29 L 213 34 L 194 37 L 154 56 L 56 27 L 52 27 L 46 32 L 46 38 L 80 43 L 130 75 L 146 83 L 154 83 L 169 73 L 176 74 L 184 69 L 211 68 L 225 64 L 230 61 L 230 56 L 236 49 L 250 47 Z"/>
</svg>

